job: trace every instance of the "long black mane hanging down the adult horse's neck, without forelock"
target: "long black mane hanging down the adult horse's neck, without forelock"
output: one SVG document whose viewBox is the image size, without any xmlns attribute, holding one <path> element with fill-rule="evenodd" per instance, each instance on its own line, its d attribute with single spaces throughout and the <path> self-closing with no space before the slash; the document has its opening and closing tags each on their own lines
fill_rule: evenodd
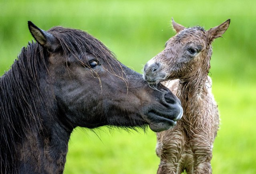
<svg viewBox="0 0 256 174">
<path fill-rule="evenodd" d="M 39 44 L 28 43 L 18 60 L 0 79 L 0 167 L 1 173 L 14 170 L 18 145 L 41 125 L 39 74 L 46 70 L 46 51 Z"/>
</svg>

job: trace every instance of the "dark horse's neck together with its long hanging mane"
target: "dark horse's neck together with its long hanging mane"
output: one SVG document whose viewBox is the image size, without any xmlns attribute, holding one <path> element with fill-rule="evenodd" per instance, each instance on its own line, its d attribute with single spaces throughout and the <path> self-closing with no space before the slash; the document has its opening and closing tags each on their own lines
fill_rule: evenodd
<svg viewBox="0 0 256 174">
<path fill-rule="evenodd" d="M 46 71 L 28 62 L 15 61 L 0 78 L 1 173 L 62 173 L 72 129 L 58 121 L 52 91 L 40 84 Z"/>
</svg>

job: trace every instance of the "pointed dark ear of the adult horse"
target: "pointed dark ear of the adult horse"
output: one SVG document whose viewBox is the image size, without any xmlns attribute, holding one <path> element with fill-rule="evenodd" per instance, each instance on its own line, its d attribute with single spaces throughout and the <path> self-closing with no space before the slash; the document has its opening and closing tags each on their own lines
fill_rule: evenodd
<svg viewBox="0 0 256 174">
<path fill-rule="evenodd" d="M 56 49 L 56 38 L 52 34 L 38 28 L 31 21 L 28 21 L 28 28 L 33 38 L 41 46 L 48 49 L 49 51 L 54 51 Z"/>
</svg>

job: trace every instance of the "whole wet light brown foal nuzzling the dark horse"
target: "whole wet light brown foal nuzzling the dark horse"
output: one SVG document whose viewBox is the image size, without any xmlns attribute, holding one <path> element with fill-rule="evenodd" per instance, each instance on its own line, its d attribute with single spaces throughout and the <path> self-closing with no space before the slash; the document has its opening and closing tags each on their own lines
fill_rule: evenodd
<svg viewBox="0 0 256 174">
<path fill-rule="evenodd" d="M 208 76 L 211 43 L 229 24 L 227 20 L 205 31 L 201 27 L 185 28 L 173 21 L 177 34 L 145 65 L 145 79 L 150 84 L 162 82 L 177 95 L 183 108 L 183 117 L 176 127 L 157 133 L 158 174 L 180 174 L 184 170 L 188 174 L 212 173 L 212 148 L 219 116 Z M 191 49 L 196 53 L 192 54 L 195 50 Z"/>
</svg>

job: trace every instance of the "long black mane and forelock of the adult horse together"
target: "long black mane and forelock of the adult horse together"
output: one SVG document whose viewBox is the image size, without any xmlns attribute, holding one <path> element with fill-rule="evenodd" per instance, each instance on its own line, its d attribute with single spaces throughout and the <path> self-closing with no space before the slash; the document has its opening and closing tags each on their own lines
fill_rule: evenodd
<svg viewBox="0 0 256 174">
<path fill-rule="evenodd" d="M 73 54 L 86 66 L 86 56 L 92 54 L 121 70 L 114 54 L 87 32 L 60 26 L 48 32 L 58 40 L 64 57 Z M 48 51 L 40 44 L 29 42 L 10 70 L 0 77 L 0 173 L 17 170 L 14 161 L 18 160 L 18 150 L 24 139 L 36 138 L 33 131 L 39 132 L 42 116 L 54 114 L 45 107 L 49 101 L 40 90 L 40 78 L 48 73 L 48 56 Z"/>
</svg>

